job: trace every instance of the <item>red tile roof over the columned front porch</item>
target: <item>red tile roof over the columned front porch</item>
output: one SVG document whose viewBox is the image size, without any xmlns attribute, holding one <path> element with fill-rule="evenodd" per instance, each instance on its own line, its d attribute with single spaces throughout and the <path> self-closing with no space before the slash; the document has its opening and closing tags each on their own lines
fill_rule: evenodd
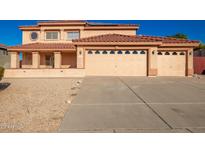
<svg viewBox="0 0 205 154">
<path fill-rule="evenodd" d="M 75 49 L 75 46 L 72 43 L 30 43 L 30 44 L 23 44 L 23 45 L 8 47 L 8 50 L 26 50 L 26 49 L 61 50 L 61 49 Z"/>
</svg>

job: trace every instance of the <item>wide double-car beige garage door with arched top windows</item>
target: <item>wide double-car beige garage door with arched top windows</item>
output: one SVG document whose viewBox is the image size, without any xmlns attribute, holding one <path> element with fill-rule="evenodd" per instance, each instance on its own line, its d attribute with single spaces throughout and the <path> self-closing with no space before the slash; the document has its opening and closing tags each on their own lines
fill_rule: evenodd
<svg viewBox="0 0 205 154">
<path fill-rule="evenodd" d="M 96 76 L 146 76 L 147 52 L 139 51 L 86 51 L 85 70 L 87 75 Z"/>
</svg>

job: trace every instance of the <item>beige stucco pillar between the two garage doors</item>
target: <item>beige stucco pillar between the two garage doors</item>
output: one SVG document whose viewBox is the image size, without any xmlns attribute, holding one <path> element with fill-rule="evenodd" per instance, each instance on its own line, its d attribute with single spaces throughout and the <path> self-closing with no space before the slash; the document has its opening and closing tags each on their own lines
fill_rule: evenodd
<svg viewBox="0 0 205 154">
<path fill-rule="evenodd" d="M 157 47 L 149 48 L 147 53 L 147 75 L 157 76 Z"/>
</svg>

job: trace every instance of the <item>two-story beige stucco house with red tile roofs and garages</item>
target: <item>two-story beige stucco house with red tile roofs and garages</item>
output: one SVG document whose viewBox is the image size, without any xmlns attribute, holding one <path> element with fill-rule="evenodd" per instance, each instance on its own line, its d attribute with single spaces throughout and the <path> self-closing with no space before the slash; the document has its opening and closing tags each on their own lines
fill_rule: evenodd
<svg viewBox="0 0 205 154">
<path fill-rule="evenodd" d="M 193 48 L 199 45 L 192 40 L 137 35 L 135 24 L 74 20 L 19 28 L 23 43 L 8 48 L 12 69 L 7 76 L 191 76 Z"/>
</svg>

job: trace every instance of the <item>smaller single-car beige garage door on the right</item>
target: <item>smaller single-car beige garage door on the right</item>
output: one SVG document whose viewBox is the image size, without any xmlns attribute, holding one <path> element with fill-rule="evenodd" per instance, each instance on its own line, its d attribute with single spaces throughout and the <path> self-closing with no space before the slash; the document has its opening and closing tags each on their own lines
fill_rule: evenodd
<svg viewBox="0 0 205 154">
<path fill-rule="evenodd" d="M 158 52 L 158 76 L 185 76 L 185 52 Z"/>
</svg>

